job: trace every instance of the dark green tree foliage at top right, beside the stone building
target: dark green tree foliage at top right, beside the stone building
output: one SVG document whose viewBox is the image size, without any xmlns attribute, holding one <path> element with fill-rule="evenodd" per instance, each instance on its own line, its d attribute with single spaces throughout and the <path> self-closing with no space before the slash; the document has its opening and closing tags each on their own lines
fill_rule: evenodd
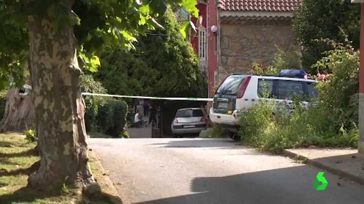
<svg viewBox="0 0 364 204">
<path fill-rule="evenodd" d="M 344 0 L 302 0 L 303 6 L 296 8 L 293 28 L 302 42 L 302 65 L 310 74 L 317 70 L 311 66 L 321 59 L 332 46 L 315 39 L 330 38 L 344 42 L 341 27 L 349 36 L 355 49 L 359 48 L 360 4 Z"/>
</svg>

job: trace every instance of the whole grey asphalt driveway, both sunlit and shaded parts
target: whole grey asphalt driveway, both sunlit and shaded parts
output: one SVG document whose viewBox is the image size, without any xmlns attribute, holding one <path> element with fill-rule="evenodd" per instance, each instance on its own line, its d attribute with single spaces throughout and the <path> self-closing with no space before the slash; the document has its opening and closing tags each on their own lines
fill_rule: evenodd
<svg viewBox="0 0 364 204">
<path fill-rule="evenodd" d="M 364 186 L 230 139 L 89 139 L 124 203 L 364 203 Z M 341 186 L 338 186 L 338 182 Z"/>
</svg>

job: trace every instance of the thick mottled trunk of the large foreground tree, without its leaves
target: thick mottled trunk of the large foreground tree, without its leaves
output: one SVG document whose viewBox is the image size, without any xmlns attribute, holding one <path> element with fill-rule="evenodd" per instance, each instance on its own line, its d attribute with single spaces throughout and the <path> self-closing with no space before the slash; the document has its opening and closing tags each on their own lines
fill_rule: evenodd
<svg viewBox="0 0 364 204">
<path fill-rule="evenodd" d="M 71 1 L 65 1 L 70 6 Z M 48 9 L 48 16 L 53 8 Z M 88 164 L 81 70 L 74 32 L 55 31 L 51 18 L 28 16 L 30 67 L 41 164 L 28 186 L 59 192 L 63 184 L 100 192 Z M 91 187 L 91 188 L 90 188 Z"/>
</svg>

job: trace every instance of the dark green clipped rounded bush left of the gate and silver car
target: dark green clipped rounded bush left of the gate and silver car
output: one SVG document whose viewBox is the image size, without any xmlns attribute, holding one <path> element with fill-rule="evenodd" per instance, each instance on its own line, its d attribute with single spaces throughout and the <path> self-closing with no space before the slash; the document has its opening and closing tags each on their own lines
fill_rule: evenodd
<svg viewBox="0 0 364 204">
<path fill-rule="evenodd" d="M 128 138 L 127 127 L 128 105 L 123 100 L 109 99 L 98 109 L 97 124 L 99 132 L 115 138 Z"/>
</svg>

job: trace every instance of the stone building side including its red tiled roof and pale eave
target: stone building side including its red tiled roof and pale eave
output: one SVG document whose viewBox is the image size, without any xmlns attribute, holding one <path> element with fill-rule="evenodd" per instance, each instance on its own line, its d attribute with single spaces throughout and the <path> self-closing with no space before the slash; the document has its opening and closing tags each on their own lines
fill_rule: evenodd
<svg viewBox="0 0 364 204">
<path fill-rule="evenodd" d="M 216 0 L 219 79 L 246 73 L 252 63 L 272 65 L 278 46 L 298 46 L 292 29 L 300 0 Z"/>
</svg>

